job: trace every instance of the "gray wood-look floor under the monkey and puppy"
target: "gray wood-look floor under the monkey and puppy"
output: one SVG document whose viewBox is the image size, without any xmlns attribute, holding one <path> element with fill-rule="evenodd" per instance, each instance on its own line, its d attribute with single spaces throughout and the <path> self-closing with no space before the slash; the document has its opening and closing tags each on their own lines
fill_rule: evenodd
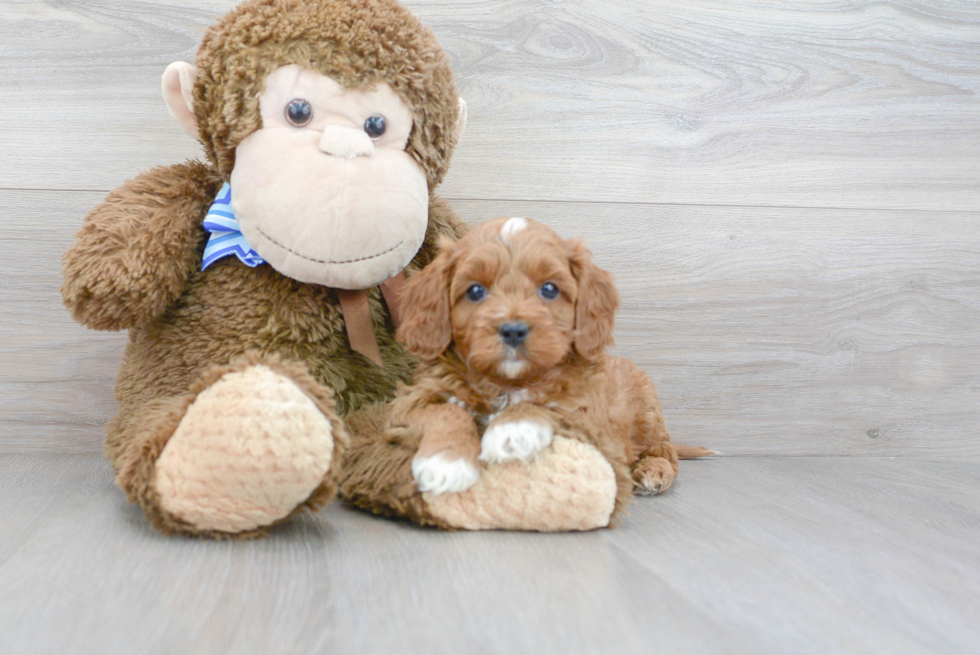
<svg viewBox="0 0 980 655">
<path fill-rule="evenodd" d="M 153 533 L 98 456 L 0 456 L 5 653 L 969 653 L 976 459 L 682 464 L 617 530 L 446 534 L 331 506 Z"/>
</svg>

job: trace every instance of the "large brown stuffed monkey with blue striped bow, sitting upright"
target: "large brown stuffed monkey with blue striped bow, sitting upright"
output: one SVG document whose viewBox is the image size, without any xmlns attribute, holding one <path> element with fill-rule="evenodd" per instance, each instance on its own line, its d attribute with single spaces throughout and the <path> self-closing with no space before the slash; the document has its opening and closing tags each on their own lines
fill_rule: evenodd
<svg viewBox="0 0 980 655">
<path fill-rule="evenodd" d="M 446 528 L 608 523 L 614 475 L 584 444 L 433 510 L 367 429 L 416 366 L 400 284 L 465 231 L 433 193 L 466 111 L 430 30 L 395 0 L 249 0 L 163 94 L 206 161 L 111 192 L 62 287 L 79 322 L 129 331 L 105 450 L 157 530 L 261 536 L 351 475 L 360 506 Z"/>
</svg>

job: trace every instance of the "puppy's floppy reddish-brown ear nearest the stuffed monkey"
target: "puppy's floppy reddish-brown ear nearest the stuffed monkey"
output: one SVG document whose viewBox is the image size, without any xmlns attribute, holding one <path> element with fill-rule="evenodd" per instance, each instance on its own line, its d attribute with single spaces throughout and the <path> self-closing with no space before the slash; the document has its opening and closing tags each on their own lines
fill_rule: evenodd
<svg viewBox="0 0 980 655">
<path fill-rule="evenodd" d="M 455 242 L 444 239 L 440 252 L 405 284 L 398 340 L 413 355 L 435 359 L 449 348 L 453 326 L 449 314 L 449 285 L 456 261 Z"/>
</svg>

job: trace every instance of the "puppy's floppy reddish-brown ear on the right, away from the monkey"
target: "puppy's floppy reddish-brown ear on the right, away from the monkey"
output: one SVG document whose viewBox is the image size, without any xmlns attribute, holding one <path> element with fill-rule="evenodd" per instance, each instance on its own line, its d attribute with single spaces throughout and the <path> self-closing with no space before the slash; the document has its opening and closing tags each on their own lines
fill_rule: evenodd
<svg viewBox="0 0 980 655">
<path fill-rule="evenodd" d="M 575 350 L 586 359 L 596 359 L 613 343 L 619 292 L 612 276 L 592 263 L 592 255 L 581 241 L 570 241 L 567 247 L 572 275 L 578 282 Z"/>
</svg>

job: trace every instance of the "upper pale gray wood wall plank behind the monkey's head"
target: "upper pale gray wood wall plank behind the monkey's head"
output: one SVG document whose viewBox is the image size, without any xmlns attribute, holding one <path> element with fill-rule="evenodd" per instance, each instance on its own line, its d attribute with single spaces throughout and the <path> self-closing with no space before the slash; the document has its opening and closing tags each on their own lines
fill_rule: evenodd
<svg viewBox="0 0 980 655">
<path fill-rule="evenodd" d="M 232 4 L 0 4 L 0 188 L 196 155 L 159 78 Z M 980 209 L 972 0 L 408 4 L 470 102 L 449 197 Z"/>
</svg>

